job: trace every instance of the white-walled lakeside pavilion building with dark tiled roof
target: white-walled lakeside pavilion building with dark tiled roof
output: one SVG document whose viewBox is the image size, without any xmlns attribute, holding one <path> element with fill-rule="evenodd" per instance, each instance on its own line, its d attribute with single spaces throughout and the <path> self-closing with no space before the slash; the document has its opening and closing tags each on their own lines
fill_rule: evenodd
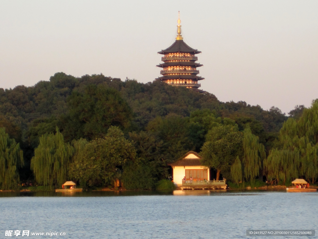
<svg viewBox="0 0 318 239">
<path fill-rule="evenodd" d="M 175 163 L 169 163 L 172 167 L 173 182 L 177 186 L 182 186 L 184 176 L 186 180 L 192 177 L 193 181 L 209 181 L 210 170 L 201 165 L 201 158 L 198 153 L 189 151 Z"/>
</svg>

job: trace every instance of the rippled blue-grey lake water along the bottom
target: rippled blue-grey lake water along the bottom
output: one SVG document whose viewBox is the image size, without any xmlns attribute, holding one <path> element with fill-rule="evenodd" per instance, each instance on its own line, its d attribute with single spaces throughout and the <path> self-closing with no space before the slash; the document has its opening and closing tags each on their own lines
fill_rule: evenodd
<svg viewBox="0 0 318 239">
<path fill-rule="evenodd" d="M 10 238 L 5 230 L 21 230 L 14 238 L 23 230 L 30 230 L 27 238 L 54 231 L 66 235 L 52 238 L 255 238 L 246 229 L 315 229 L 317 235 L 317 203 L 318 192 L 2 192 L 0 238 Z"/>
</svg>

